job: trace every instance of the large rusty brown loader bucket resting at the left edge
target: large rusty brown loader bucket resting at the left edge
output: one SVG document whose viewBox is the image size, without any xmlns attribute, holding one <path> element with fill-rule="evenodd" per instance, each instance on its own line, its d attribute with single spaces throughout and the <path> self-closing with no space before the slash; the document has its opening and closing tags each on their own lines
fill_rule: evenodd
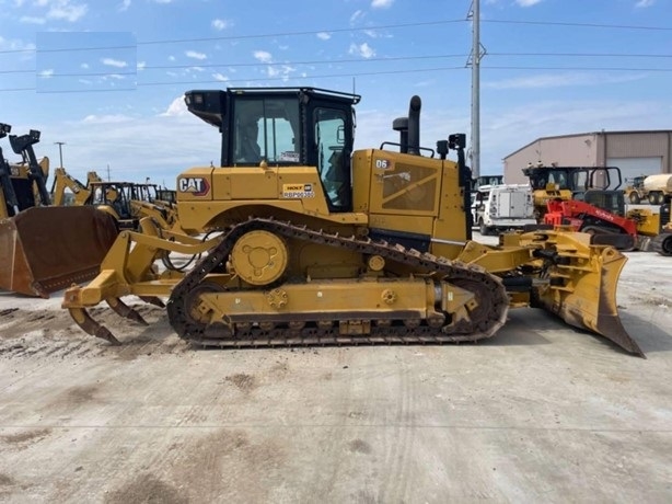
<svg viewBox="0 0 672 504">
<path fill-rule="evenodd" d="M 117 226 L 92 206 L 34 207 L 0 220 L 0 288 L 48 298 L 99 272 Z"/>
</svg>

